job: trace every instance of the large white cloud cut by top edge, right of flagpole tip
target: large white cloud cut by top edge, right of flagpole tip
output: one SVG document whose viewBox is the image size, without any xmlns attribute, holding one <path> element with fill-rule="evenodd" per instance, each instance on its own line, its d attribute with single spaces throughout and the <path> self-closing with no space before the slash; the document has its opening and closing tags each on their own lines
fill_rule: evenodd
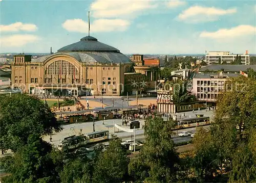
<svg viewBox="0 0 256 183">
<path fill-rule="evenodd" d="M 96 18 L 113 18 L 134 16 L 146 9 L 154 9 L 158 5 L 153 0 L 97 0 L 91 4 L 92 15 Z"/>
</svg>

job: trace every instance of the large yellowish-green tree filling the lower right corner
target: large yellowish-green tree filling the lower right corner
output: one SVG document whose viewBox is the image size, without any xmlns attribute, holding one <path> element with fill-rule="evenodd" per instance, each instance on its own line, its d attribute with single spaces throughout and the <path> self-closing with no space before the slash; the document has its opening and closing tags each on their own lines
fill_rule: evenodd
<svg viewBox="0 0 256 183">
<path fill-rule="evenodd" d="M 256 180 L 255 91 L 256 81 L 240 76 L 228 81 L 218 96 L 209 133 L 195 136 L 194 166 L 200 181 L 211 181 L 213 174 L 222 175 L 222 167 L 229 172 L 230 182 Z"/>
</svg>

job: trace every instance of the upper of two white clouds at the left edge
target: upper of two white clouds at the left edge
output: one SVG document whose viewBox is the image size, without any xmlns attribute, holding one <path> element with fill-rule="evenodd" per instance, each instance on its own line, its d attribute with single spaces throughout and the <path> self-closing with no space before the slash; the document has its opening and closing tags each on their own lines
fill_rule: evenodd
<svg viewBox="0 0 256 183">
<path fill-rule="evenodd" d="M 16 22 L 9 25 L 0 25 L 1 32 L 36 31 L 35 24 Z"/>
</svg>

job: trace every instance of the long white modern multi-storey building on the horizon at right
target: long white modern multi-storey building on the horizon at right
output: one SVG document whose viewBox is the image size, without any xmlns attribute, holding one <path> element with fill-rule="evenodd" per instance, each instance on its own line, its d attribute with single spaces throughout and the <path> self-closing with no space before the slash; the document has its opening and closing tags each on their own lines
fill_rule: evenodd
<svg viewBox="0 0 256 183">
<path fill-rule="evenodd" d="M 247 50 L 245 54 L 238 54 L 238 56 L 241 56 L 243 65 L 250 65 L 250 55 L 248 55 Z M 230 63 L 236 60 L 236 57 L 237 54 L 230 54 L 230 51 L 209 51 L 208 54 L 205 55 L 205 62 L 207 64 L 219 63 L 220 59 L 221 64 L 224 61 Z"/>
</svg>

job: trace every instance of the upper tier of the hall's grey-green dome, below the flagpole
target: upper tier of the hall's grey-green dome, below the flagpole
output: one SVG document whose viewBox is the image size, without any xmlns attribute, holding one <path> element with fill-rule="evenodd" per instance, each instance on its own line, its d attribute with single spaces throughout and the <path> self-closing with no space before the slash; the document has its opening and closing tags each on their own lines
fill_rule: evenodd
<svg viewBox="0 0 256 183">
<path fill-rule="evenodd" d="M 99 51 L 99 52 L 115 52 L 120 51 L 112 46 L 99 42 L 92 36 L 86 36 L 80 39 L 80 41 L 64 46 L 58 50 L 58 52 L 87 52 L 87 51 Z"/>
</svg>

